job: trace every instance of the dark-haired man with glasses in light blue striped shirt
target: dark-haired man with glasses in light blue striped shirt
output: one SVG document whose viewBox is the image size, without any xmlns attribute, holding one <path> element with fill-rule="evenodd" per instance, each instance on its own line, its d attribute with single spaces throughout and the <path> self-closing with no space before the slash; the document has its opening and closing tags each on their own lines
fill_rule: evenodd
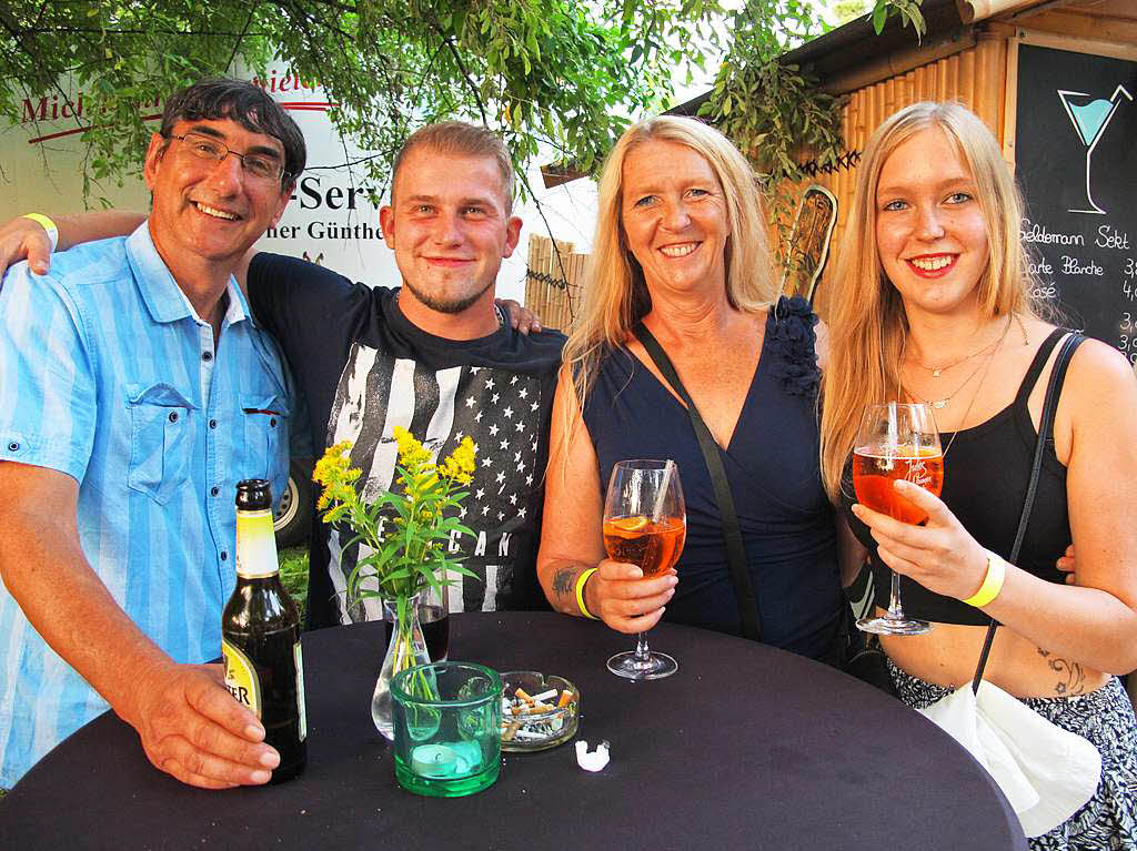
<svg viewBox="0 0 1137 851">
<path fill-rule="evenodd" d="M 150 140 L 147 222 L 5 278 L 0 786 L 108 704 L 185 783 L 279 764 L 200 662 L 235 581 L 235 484 L 287 478 L 294 399 L 233 273 L 305 157 L 258 87 L 193 85 Z"/>
</svg>

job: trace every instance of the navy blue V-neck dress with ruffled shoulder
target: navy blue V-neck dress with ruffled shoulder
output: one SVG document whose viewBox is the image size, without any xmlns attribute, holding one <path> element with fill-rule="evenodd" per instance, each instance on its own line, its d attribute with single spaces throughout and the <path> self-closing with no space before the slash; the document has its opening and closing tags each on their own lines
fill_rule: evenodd
<svg viewBox="0 0 1137 851">
<path fill-rule="evenodd" d="M 761 609 L 762 640 L 823 659 L 837 643 L 846 603 L 833 508 L 818 467 L 815 323 L 800 298 L 771 308 L 738 425 L 720 453 Z M 714 486 L 686 408 L 620 349 L 601 361 L 583 417 L 601 490 L 620 460 L 673 458 L 679 465 L 687 544 L 664 619 L 741 635 Z"/>
</svg>

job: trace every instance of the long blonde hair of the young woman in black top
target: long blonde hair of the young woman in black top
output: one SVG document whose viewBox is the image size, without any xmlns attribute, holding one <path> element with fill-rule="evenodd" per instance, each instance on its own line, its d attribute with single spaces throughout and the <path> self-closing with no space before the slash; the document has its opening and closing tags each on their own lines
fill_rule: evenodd
<svg viewBox="0 0 1137 851">
<path fill-rule="evenodd" d="M 980 312 L 987 318 L 1035 314 L 1028 297 L 1032 285 L 1028 256 L 1019 239 L 1022 201 L 987 125 L 955 102 L 913 103 L 890 116 L 872 134 L 861 159 L 829 317 L 829 359 L 821 382 L 821 475 L 831 499 L 840 491 L 864 406 L 894 400 L 899 389 L 907 317 L 877 250 L 877 185 L 893 151 L 932 127 L 953 142 L 976 182 L 989 252 L 978 284 Z"/>
</svg>

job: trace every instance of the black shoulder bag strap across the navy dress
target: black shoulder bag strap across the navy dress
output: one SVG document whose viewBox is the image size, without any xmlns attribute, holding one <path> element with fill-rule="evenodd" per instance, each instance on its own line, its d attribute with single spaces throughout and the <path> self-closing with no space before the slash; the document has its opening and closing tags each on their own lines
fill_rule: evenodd
<svg viewBox="0 0 1137 851">
<path fill-rule="evenodd" d="M 731 493 L 730 482 L 727 479 L 727 469 L 722 465 L 719 444 L 715 443 L 711 429 L 703 422 L 698 408 L 691 401 L 687 387 L 679 379 L 675 367 L 672 366 L 671 359 L 663 350 L 663 347 L 659 345 L 659 342 L 652 335 L 652 332 L 647 329 L 644 323 L 637 324 L 632 333 L 644 344 L 648 356 L 663 374 L 663 377 L 671 384 L 680 399 L 687 403 L 687 412 L 691 417 L 695 436 L 699 442 L 699 449 L 703 450 L 703 458 L 706 460 L 707 470 L 711 473 L 711 483 L 714 485 L 715 500 L 719 503 L 719 515 L 722 519 L 722 537 L 727 544 L 727 560 L 730 562 L 735 596 L 738 599 L 738 617 L 742 624 L 742 634 L 747 639 L 761 641 L 762 624 L 758 614 L 758 601 L 754 596 L 750 571 L 746 565 L 746 548 L 742 545 L 742 533 L 738 526 L 738 515 L 735 512 L 735 495 Z"/>
</svg>

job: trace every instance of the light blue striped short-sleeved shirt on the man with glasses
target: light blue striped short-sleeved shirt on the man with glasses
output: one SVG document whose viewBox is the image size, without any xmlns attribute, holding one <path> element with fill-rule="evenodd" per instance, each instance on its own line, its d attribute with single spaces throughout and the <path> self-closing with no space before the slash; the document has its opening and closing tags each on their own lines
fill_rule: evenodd
<svg viewBox="0 0 1137 851">
<path fill-rule="evenodd" d="M 219 656 L 235 485 L 283 492 L 290 386 L 232 280 L 215 348 L 146 224 L 0 289 L 0 461 L 78 482 L 88 561 L 175 661 Z M 0 587 L 0 786 L 106 709 Z"/>
</svg>

